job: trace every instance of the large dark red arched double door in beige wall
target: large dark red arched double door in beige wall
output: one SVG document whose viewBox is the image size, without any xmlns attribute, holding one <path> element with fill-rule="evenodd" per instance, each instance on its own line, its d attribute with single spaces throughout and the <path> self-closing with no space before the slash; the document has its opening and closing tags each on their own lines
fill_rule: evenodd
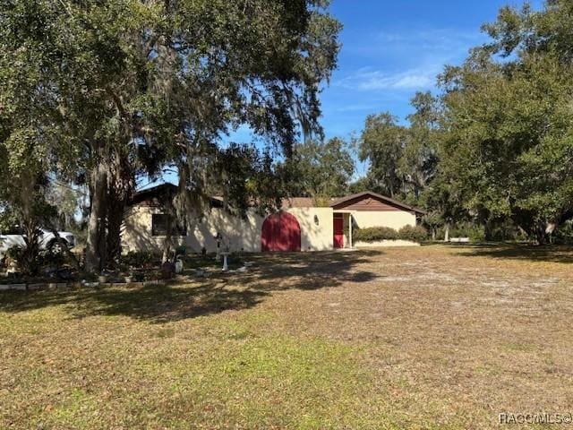
<svg viewBox="0 0 573 430">
<path fill-rule="evenodd" d="M 288 212 L 270 214 L 262 223 L 262 251 L 300 251 L 301 226 Z"/>
</svg>

